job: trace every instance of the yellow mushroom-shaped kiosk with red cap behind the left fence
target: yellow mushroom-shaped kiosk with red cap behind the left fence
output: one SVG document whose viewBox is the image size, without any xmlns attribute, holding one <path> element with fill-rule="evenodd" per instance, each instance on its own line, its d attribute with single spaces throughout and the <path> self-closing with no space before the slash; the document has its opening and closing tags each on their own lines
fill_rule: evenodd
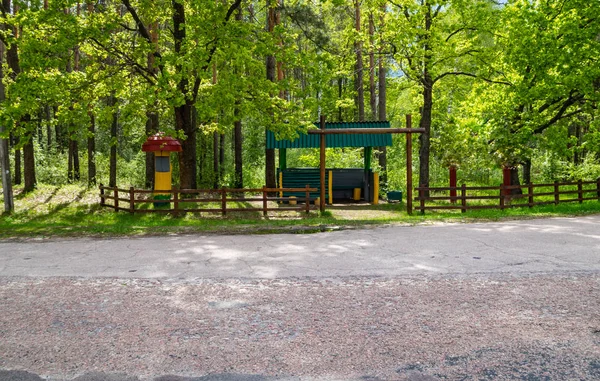
<svg viewBox="0 0 600 381">
<path fill-rule="evenodd" d="M 170 200 L 172 179 L 171 152 L 181 152 L 181 143 L 164 133 L 152 135 L 142 144 L 143 152 L 154 152 L 154 199 Z M 154 207 L 168 207 L 169 202 L 155 202 Z"/>
</svg>

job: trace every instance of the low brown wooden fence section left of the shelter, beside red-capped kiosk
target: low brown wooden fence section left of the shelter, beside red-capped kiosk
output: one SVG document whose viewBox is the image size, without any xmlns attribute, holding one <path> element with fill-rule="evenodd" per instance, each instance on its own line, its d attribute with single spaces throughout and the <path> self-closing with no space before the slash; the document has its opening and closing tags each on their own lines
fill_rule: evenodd
<svg viewBox="0 0 600 381">
<path fill-rule="evenodd" d="M 112 208 L 115 212 L 121 210 L 134 213 L 186 213 L 186 212 L 260 212 L 266 216 L 271 211 L 298 211 L 309 213 L 318 209 L 311 205 L 310 192 L 315 188 L 308 185 L 305 188 L 267 188 L 260 189 L 173 189 L 170 191 L 151 191 L 143 189 L 121 189 L 105 187 L 100 184 L 100 205 Z M 273 197 L 270 194 L 278 192 L 304 192 L 305 197 Z M 156 199 L 152 194 L 160 194 L 164 198 Z M 247 196 L 248 195 L 248 196 Z M 258 197 L 257 197 L 258 195 Z M 107 203 L 107 200 L 111 201 Z M 272 202 L 284 202 L 285 206 L 273 207 Z M 235 207 L 228 204 L 235 203 Z M 295 203 L 295 205 L 294 205 Z M 240 204 L 243 207 L 240 207 Z M 259 204 L 260 207 L 257 207 Z M 206 207 L 198 207 L 206 205 Z M 271 206 L 270 206 L 271 205 Z M 154 207 L 151 207 L 154 206 Z"/>
</svg>

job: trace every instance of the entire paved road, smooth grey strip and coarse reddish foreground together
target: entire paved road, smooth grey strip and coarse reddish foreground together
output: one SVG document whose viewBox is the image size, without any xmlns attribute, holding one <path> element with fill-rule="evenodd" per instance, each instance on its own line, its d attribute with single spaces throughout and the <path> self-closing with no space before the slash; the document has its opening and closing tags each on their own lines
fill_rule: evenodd
<svg viewBox="0 0 600 381">
<path fill-rule="evenodd" d="M 0 381 L 596 380 L 599 270 L 600 216 L 0 241 Z"/>
</svg>

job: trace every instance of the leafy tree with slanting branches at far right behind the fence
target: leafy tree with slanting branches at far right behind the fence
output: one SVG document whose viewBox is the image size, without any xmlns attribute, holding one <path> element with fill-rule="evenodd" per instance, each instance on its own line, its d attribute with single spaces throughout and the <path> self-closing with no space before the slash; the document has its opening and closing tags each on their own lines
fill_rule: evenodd
<svg viewBox="0 0 600 381">
<path fill-rule="evenodd" d="M 533 148 L 543 134 L 597 109 L 600 7 L 582 0 L 515 0 L 502 16 L 498 62 L 509 80 L 489 88 L 482 101 L 491 151 L 518 184 L 518 168 L 525 175 L 531 170 Z M 563 141 L 567 135 L 565 129 Z"/>
</svg>

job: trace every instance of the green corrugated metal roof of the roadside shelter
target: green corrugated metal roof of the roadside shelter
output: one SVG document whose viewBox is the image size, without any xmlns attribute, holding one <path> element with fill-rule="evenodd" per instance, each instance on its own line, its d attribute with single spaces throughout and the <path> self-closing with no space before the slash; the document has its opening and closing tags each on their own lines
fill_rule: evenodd
<svg viewBox="0 0 600 381">
<path fill-rule="evenodd" d="M 319 127 L 318 123 L 315 126 Z M 325 123 L 325 129 L 335 128 L 389 128 L 390 122 Z M 383 147 L 392 145 L 391 134 L 348 134 L 327 135 L 327 148 Z M 267 148 L 319 148 L 319 135 L 300 134 L 295 140 L 277 140 L 275 134 L 267 131 Z"/>
</svg>

